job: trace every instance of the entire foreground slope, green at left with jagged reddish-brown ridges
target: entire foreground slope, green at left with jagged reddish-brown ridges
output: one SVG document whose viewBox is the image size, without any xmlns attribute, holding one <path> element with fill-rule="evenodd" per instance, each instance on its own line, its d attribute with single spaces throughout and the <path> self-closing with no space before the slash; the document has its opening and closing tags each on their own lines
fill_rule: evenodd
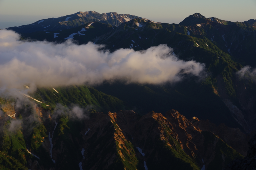
<svg viewBox="0 0 256 170">
<path fill-rule="evenodd" d="M 56 105 L 51 111 L 30 100 L 14 105 L 14 117 L 2 109 L 3 168 L 222 169 L 242 158 L 214 133 L 200 130 L 176 110 L 165 116 L 153 111 L 143 116 L 122 110 L 83 112 L 84 117 L 78 119 L 68 108 Z M 10 131 L 14 122 L 17 126 Z"/>
</svg>

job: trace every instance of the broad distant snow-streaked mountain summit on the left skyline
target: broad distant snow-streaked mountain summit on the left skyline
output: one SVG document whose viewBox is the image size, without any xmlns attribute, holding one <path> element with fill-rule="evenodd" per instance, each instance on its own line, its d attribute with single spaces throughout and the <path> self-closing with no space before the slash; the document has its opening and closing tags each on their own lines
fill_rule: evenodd
<svg viewBox="0 0 256 170">
<path fill-rule="evenodd" d="M 135 15 L 118 14 L 116 12 L 97 13 L 95 11 L 77 12 L 72 15 L 66 15 L 59 18 L 42 19 L 29 25 L 22 25 L 19 27 L 9 27 L 7 29 L 13 30 L 17 33 L 32 33 L 36 31 L 56 31 L 63 29 L 75 28 L 89 22 L 101 22 L 110 24 L 112 26 L 119 26 L 134 18 L 141 18 Z M 147 19 L 146 19 L 147 20 Z"/>
</svg>

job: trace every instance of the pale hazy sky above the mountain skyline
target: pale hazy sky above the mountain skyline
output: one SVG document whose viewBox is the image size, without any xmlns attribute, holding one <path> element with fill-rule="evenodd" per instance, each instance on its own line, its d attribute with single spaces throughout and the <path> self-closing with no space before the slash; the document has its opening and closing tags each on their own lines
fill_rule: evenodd
<svg viewBox="0 0 256 170">
<path fill-rule="evenodd" d="M 194 13 L 243 22 L 256 19 L 256 0 L 0 0 L 0 22 L 34 23 L 79 11 L 117 12 L 156 22 L 179 23 Z M 19 26 L 19 25 L 17 25 Z"/>
</svg>

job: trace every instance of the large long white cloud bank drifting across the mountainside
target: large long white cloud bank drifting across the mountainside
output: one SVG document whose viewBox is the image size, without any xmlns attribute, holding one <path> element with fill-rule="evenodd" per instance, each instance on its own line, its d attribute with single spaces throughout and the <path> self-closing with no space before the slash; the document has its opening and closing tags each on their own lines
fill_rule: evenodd
<svg viewBox="0 0 256 170">
<path fill-rule="evenodd" d="M 183 74 L 200 77 L 205 69 L 202 63 L 179 60 L 167 45 L 112 53 L 100 50 L 102 47 L 91 42 L 24 42 L 17 33 L 0 30 L 0 88 L 93 85 L 113 80 L 159 84 L 180 81 Z"/>
</svg>

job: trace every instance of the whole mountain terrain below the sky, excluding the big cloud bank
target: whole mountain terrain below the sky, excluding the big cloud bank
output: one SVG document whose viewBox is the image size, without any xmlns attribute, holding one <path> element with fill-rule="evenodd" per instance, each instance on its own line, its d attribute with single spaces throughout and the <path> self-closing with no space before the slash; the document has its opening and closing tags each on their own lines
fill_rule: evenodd
<svg viewBox="0 0 256 170">
<path fill-rule="evenodd" d="M 21 42 L 72 39 L 110 53 L 166 45 L 179 60 L 204 63 L 205 74 L 1 95 L 0 169 L 256 169 L 255 19 L 195 13 L 168 24 L 89 11 L 6 30 Z"/>
</svg>

